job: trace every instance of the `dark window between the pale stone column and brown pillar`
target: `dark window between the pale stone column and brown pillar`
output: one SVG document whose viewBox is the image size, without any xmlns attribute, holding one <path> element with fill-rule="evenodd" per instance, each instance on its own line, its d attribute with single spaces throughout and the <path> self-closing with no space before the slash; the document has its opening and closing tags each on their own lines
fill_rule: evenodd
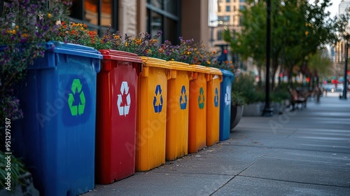
<svg viewBox="0 0 350 196">
<path fill-rule="evenodd" d="M 169 40 L 174 44 L 179 43 L 180 22 L 178 0 L 147 0 L 147 31 L 151 36 L 155 36 L 158 31 L 162 31 L 160 43 Z"/>
</svg>

